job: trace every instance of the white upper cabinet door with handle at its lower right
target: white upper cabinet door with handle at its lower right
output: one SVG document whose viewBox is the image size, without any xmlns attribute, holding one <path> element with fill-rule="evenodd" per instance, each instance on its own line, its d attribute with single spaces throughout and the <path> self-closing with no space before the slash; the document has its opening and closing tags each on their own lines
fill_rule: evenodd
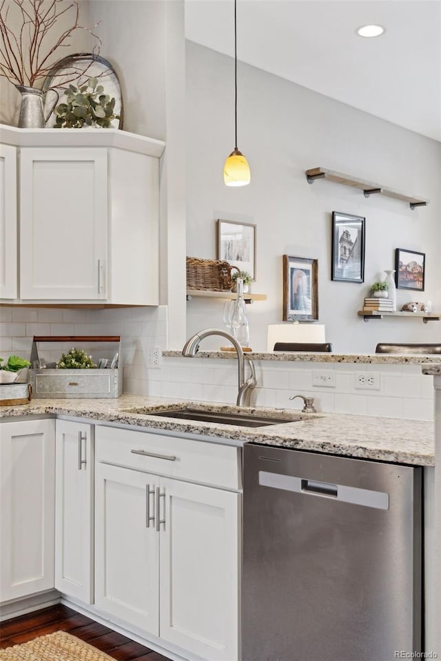
<svg viewBox="0 0 441 661">
<path fill-rule="evenodd" d="M 23 147 L 20 297 L 107 298 L 107 149 Z"/>
</svg>

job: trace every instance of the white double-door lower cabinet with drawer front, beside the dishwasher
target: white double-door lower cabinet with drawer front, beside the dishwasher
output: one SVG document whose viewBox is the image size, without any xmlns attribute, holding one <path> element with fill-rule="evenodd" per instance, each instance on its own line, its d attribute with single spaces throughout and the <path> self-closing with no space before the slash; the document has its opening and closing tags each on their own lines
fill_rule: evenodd
<svg viewBox="0 0 441 661">
<path fill-rule="evenodd" d="M 218 453 L 218 480 L 232 480 L 238 448 L 227 450 L 96 427 L 95 605 L 209 661 L 238 658 L 241 496 L 181 472 L 192 455 L 203 479 Z"/>
</svg>

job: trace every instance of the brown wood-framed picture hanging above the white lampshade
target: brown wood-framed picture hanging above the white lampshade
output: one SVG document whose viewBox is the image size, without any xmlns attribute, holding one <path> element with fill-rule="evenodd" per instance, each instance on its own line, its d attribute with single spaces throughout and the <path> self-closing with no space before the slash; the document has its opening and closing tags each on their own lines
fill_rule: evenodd
<svg viewBox="0 0 441 661">
<path fill-rule="evenodd" d="M 318 261 L 283 255 L 283 321 L 318 321 Z"/>
</svg>

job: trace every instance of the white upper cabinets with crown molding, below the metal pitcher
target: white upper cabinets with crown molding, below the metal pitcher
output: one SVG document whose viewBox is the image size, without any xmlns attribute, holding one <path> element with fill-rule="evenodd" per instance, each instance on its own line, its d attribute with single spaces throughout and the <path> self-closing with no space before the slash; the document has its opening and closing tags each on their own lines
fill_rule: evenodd
<svg viewBox="0 0 441 661">
<path fill-rule="evenodd" d="M 117 129 L 0 136 L 1 300 L 158 305 L 164 143 Z"/>
</svg>

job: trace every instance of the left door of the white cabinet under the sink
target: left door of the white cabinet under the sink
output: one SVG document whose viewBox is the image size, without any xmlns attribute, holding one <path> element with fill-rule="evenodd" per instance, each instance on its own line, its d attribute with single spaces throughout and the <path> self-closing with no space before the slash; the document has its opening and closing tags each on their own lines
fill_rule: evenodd
<svg viewBox="0 0 441 661">
<path fill-rule="evenodd" d="M 154 475 L 96 464 L 95 605 L 155 636 L 159 629 L 159 535 L 153 521 L 157 485 Z"/>
</svg>

